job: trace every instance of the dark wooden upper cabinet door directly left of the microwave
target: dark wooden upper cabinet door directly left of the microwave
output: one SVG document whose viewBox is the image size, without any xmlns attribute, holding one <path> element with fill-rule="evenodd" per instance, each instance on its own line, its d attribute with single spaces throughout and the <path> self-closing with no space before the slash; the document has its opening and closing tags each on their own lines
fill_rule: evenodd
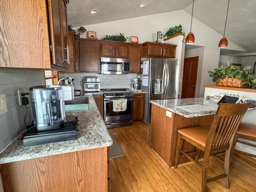
<svg viewBox="0 0 256 192">
<path fill-rule="evenodd" d="M 78 58 L 80 72 L 100 72 L 100 44 L 79 42 Z"/>
</svg>

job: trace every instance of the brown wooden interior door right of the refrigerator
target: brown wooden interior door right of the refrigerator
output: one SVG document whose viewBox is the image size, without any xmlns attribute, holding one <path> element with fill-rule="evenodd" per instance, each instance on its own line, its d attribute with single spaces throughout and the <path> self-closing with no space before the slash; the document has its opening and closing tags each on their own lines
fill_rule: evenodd
<svg viewBox="0 0 256 192">
<path fill-rule="evenodd" d="M 195 97 L 198 58 L 197 56 L 184 59 L 181 98 Z"/>
</svg>

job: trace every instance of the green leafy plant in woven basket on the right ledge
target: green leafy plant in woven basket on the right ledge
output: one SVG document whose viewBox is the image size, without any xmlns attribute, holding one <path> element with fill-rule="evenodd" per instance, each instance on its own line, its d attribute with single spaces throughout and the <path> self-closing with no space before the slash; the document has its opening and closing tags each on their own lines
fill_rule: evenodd
<svg viewBox="0 0 256 192">
<path fill-rule="evenodd" d="M 248 71 L 250 67 L 246 67 L 243 70 L 240 70 L 238 66 L 229 66 L 229 64 L 226 68 L 222 67 L 208 71 L 209 76 L 212 77 L 212 82 L 216 82 L 217 86 L 245 88 L 256 83 L 256 77 L 252 72 Z"/>
</svg>

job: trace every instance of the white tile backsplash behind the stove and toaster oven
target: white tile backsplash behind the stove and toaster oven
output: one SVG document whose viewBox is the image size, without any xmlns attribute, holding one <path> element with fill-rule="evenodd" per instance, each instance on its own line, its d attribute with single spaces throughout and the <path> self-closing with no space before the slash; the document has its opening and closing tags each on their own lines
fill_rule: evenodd
<svg viewBox="0 0 256 192">
<path fill-rule="evenodd" d="M 132 78 L 137 78 L 137 74 L 123 74 L 123 75 L 110 75 L 110 74 L 99 74 L 99 73 L 64 73 L 59 72 L 60 78 L 72 77 L 75 89 L 84 90 L 84 78 L 86 76 L 96 76 L 100 78 L 100 88 L 131 88 Z M 82 83 L 80 84 L 80 79 Z"/>
</svg>

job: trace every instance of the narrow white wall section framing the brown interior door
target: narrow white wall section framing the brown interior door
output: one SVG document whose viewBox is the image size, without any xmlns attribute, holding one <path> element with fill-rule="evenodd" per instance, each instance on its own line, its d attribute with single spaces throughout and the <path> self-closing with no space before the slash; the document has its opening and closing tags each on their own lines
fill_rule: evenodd
<svg viewBox="0 0 256 192">
<path fill-rule="evenodd" d="M 202 79 L 202 66 L 203 66 L 203 58 L 204 58 L 204 47 L 191 49 L 185 51 L 184 58 L 196 57 L 198 56 L 198 70 L 197 70 L 197 77 L 196 77 L 196 93 L 195 97 L 202 97 L 203 95 L 200 94 L 200 83 Z M 182 77 L 183 78 L 183 74 Z"/>
</svg>

